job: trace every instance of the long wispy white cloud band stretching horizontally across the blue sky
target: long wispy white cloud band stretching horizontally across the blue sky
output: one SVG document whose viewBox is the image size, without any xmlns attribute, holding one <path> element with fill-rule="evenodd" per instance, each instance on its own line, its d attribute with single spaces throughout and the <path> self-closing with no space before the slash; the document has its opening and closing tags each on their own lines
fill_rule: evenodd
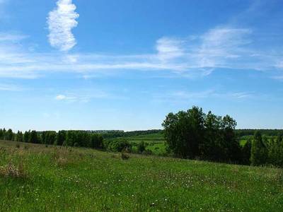
<svg viewBox="0 0 283 212">
<path fill-rule="evenodd" d="M 68 1 L 69 2 L 69 1 Z M 55 72 L 161 71 L 181 77 L 206 76 L 214 69 L 282 70 L 279 52 L 253 48 L 248 28 L 217 27 L 192 38 L 161 37 L 155 54 L 36 53 L 18 42 L 25 36 L 0 33 L 0 77 L 36 78 Z"/>
</svg>

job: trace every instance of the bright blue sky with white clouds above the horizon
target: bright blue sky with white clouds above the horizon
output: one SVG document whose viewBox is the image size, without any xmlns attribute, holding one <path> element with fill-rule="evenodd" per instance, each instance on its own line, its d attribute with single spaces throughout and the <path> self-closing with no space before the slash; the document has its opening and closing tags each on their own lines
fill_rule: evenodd
<svg viewBox="0 0 283 212">
<path fill-rule="evenodd" d="M 283 127 L 281 0 L 0 0 L 0 128 Z"/>
</svg>

